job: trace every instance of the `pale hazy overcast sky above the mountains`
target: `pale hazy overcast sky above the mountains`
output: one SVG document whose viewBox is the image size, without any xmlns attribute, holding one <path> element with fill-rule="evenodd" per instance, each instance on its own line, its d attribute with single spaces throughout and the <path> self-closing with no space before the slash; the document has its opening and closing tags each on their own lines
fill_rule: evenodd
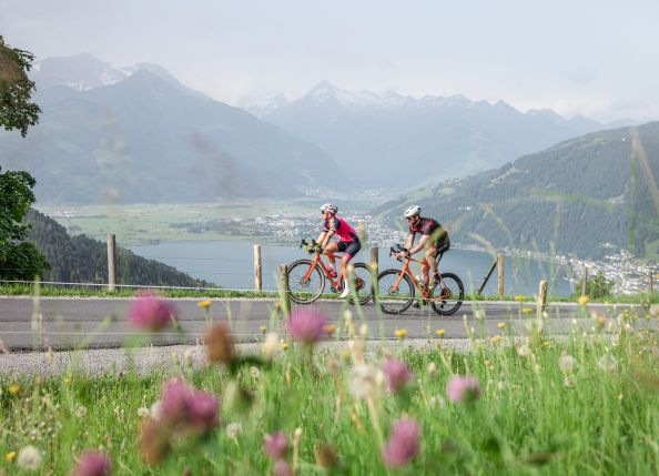
<svg viewBox="0 0 659 476">
<path fill-rule="evenodd" d="M 38 59 L 152 62 L 230 104 L 328 80 L 602 122 L 659 120 L 657 24 L 656 0 L 0 0 Z"/>
</svg>

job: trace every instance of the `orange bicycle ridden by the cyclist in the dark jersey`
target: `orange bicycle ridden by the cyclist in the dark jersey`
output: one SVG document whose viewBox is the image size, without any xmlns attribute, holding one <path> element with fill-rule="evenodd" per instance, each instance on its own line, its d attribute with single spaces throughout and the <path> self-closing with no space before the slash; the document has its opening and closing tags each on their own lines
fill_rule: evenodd
<svg viewBox="0 0 659 476">
<path fill-rule="evenodd" d="M 399 244 L 397 249 L 392 246 L 389 256 L 402 251 L 405 250 Z M 375 302 L 379 304 L 385 314 L 403 314 L 407 311 L 414 302 L 415 287 L 420 292 L 420 301 L 432 304 L 433 310 L 439 315 L 452 315 L 462 306 L 465 287 L 457 275 L 439 273 L 437 270 L 439 282 L 425 288 L 409 269 L 410 262 L 419 264 L 423 262 L 412 256 L 406 256 L 405 260 L 397 257 L 396 260 L 404 261 L 403 267 L 401 270 L 392 267 L 377 275 L 377 298 L 375 298 L 376 290 L 373 290 Z"/>
</svg>

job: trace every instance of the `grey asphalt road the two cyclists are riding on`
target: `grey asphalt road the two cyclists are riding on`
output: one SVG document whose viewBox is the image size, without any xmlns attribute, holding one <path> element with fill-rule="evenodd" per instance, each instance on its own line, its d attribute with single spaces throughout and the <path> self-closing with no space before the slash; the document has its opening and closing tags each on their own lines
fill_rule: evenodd
<svg viewBox="0 0 659 476">
<path fill-rule="evenodd" d="M 131 338 L 138 340 L 141 345 L 197 342 L 207 326 L 204 310 L 199 307 L 196 300 L 173 301 L 184 335 L 169 331 L 154 336 L 132 328 L 126 322 L 131 300 L 42 297 L 36 302 L 31 297 L 0 297 L 0 341 L 12 351 L 70 348 L 82 343 L 90 347 L 116 347 Z M 444 338 L 467 337 L 467 328 L 472 327 L 478 335 L 494 336 L 508 332 L 524 335 L 528 333 L 529 316 L 535 316 L 533 303 L 520 305 L 516 302 L 467 302 L 453 316 L 439 316 L 427 306 L 423 311 L 410 308 L 399 316 L 383 315 L 372 303 L 362 306 L 361 312 L 337 301 L 317 302 L 313 307 L 335 323 L 343 308 L 351 308 L 358 324 L 367 324 L 373 338 L 395 338 L 398 328 L 407 330 L 408 338 L 436 338 L 435 333 L 440 328 L 445 332 Z M 524 307 L 530 307 L 534 312 L 526 315 L 523 313 Z M 595 324 L 591 317 L 594 313 L 610 321 L 621 314 L 623 308 L 629 308 L 632 315 L 638 314 L 639 320 L 646 315 L 640 306 L 588 305 L 587 310 L 582 310 L 572 304 L 549 304 L 545 330 L 565 333 L 574 318 L 579 325 L 590 327 Z M 109 316 L 112 322 L 103 325 Z M 266 326 L 267 332 L 282 328 L 273 300 L 215 300 L 209 310 L 209 317 L 213 321 L 230 321 L 237 342 L 258 342 L 263 338 L 262 326 Z M 655 326 L 655 321 L 646 325 Z M 506 323 L 504 331 L 498 327 L 501 322 Z"/>
</svg>

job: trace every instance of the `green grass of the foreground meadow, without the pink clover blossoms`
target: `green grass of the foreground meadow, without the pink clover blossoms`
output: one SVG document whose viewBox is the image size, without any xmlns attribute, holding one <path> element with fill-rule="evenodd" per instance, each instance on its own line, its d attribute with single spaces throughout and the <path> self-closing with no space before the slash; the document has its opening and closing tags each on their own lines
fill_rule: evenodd
<svg viewBox="0 0 659 476">
<path fill-rule="evenodd" d="M 0 452 L 4 456 L 37 446 L 44 457 L 38 474 L 69 474 L 87 448 L 107 452 L 115 474 L 272 474 L 264 434 L 282 431 L 292 438 L 301 428 L 286 457 L 301 475 L 657 474 L 657 338 L 626 330 L 641 322 L 627 316 L 616 323 L 614 335 L 575 332 L 560 342 L 536 335 L 517 347 L 510 336 L 496 345 L 474 341 L 466 352 L 443 348 L 437 340 L 432 350 L 401 346 L 363 356 L 355 337 L 351 352 L 312 356 L 292 344 L 258 376 L 250 365 L 232 376 L 224 367 L 194 368 L 179 361 L 166 373 L 144 376 L 113 372 L 92 377 L 75 366 L 58 377 L 6 375 L 0 377 Z M 559 368 L 566 354 L 576 361 L 571 371 Z M 396 395 L 377 384 L 385 355 L 406 362 L 415 376 Z M 378 388 L 371 399 L 353 393 L 352 369 L 363 359 L 372 365 Z M 605 361 L 616 368 L 604 369 Z M 169 457 L 149 466 L 138 449 L 138 409 L 150 407 L 172 375 L 222 396 L 222 424 L 205 438 L 180 434 Z M 480 397 L 473 404 L 448 402 L 452 375 L 476 376 Z M 17 395 L 9 392 L 12 385 L 19 387 Z M 236 385 L 250 403 L 232 391 Z M 382 442 L 403 415 L 423 428 L 419 453 L 402 470 L 388 472 Z M 225 432 L 230 423 L 243 425 L 235 440 Z M 316 465 L 314 445 L 322 443 L 338 455 L 334 473 Z M 1 472 L 28 474 L 4 459 Z"/>
</svg>

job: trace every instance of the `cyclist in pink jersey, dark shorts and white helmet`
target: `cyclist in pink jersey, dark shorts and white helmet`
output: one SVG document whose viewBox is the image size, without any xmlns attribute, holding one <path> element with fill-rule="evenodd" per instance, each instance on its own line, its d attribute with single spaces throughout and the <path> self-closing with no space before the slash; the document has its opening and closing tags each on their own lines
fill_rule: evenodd
<svg viewBox="0 0 659 476">
<path fill-rule="evenodd" d="M 321 249 L 327 253 L 342 252 L 341 257 L 341 270 L 343 273 L 343 280 L 345 287 L 339 297 L 347 297 L 351 293 L 348 288 L 348 274 L 347 264 L 359 250 L 362 250 L 362 243 L 355 229 L 353 229 L 344 219 L 336 216 L 338 207 L 330 203 L 325 203 L 321 206 L 321 213 L 323 213 L 322 231 L 316 242 L 321 245 Z M 330 243 L 332 236 L 338 235 L 338 241 Z M 338 274 L 336 260 L 333 256 L 328 256 L 332 267 L 334 267 L 334 276 Z M 334 277 L 333 276 L 333 277 Z"/>
</svg>

